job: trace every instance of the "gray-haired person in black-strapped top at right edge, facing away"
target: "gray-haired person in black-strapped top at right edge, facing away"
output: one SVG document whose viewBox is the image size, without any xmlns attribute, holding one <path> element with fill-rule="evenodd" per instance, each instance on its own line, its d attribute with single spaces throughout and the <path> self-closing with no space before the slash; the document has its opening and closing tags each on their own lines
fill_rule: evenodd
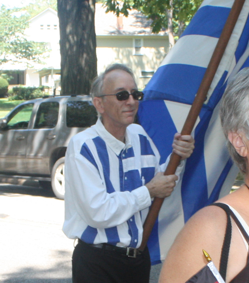
<svg viewBox="0 0 249 283">
<path fill-rule="evenodd" d="M 202 249 L 220 267 L 225 282 L 249 283 L 249 68 L 227 86 L 220 116 L 245 184 L 188 220 L 166 257 L 159 283 L 197 282 L 194 277 L 207 264 Z"/>
</svg>

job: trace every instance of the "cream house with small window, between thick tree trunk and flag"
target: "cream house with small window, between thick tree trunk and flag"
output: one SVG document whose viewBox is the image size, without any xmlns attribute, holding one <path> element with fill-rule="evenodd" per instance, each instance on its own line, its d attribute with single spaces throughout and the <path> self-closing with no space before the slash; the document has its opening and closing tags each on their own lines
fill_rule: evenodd
<svg viewBox="0 0 249 283">
<path fill-rule="evenodd" d="M 137 10 L 118 18 L 105 10 L 102 3 L 96 3 L 98 74 L 110 63 L 127 64 L 142 90 L 168 52 L 168 35 L 151 33 L 150 21 Z"/>
</svg>

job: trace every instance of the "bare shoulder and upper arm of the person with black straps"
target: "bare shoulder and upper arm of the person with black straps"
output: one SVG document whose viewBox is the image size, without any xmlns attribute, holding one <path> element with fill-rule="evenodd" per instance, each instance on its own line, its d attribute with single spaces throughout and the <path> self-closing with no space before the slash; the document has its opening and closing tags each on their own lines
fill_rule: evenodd
<svg viewBox="0 0 249 283">
<path fill-rule="evenodd" d="M 207 206 L 193 215 L 176 237 L 159 282 L 185 283 L 207 264 L 203 249 L 219 266 L 226 225 L 226 213 L 217 206 Z"/>
</svg>

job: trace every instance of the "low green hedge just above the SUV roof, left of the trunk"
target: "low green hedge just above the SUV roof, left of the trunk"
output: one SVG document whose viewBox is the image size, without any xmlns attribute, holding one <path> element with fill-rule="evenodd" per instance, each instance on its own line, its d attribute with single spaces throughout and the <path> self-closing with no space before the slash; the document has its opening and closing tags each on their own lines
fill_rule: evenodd
<svg viewBox="0 0 249 283">
<path fill-rule="evenodd" d="M 44 96 L 43 87 L 13 87 L 9 100 L 29 100 Z"/>
</svg>

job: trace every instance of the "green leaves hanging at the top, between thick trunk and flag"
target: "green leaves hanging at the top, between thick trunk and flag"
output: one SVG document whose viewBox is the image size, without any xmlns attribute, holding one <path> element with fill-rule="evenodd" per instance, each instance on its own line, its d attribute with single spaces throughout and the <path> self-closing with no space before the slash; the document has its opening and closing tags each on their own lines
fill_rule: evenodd
<svg viewBox="0 0 249 283">
<path fill-rule="evenodd" d="M 104 0 L 108 11 L 128 15 L 130 9 L 141 11 L 148 19 L 152 20 L 152 32 L 158 33 L 162 28 L 167 29 L 167 10 L 173 9 L 174 33 L 178 33 L 179 25 L 183 28 L 189 23 L 202 0 Z"/>
</svg>

